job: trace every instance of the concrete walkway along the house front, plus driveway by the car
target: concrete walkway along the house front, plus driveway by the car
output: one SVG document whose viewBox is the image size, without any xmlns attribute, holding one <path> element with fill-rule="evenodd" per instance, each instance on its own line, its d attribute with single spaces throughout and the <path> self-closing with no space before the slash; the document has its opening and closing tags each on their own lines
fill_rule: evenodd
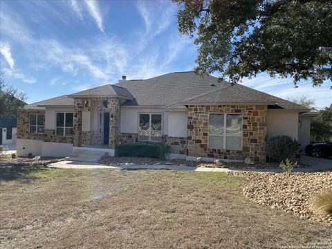
<svg viewBox="0 0 332 249">
<path fill-rule="evenodd" d="M 325 161 L 326 160 L 326 161 Z M 294 172 L 314 172 L 320 169 L 331 169 L 332 171 L 332 160 L 324 158 L 311 158 L 309 156 L 303 156 L 302 162 L 305 162 L 310 167 L 295 168 Z M 303 163 L 304 163 L 303 162 Z M 322 162 L 322 163 L 321 163 Z M 309 164 L 310 163 L 310 164 Z M 187 172 L 282 172 L 282 169 L 251 169 L 251 168 L 217 168 L 217 167 L 190 167 L 185 165 L 116 165 L 107 166 L 99 165 L 98 163 L 84 163 L 64 160 L 57 163 L 52 163 L 48 167 L 57 167 L 63 169 L 170 169 L 170 170 L 181 170 Z"/>
</svg>

